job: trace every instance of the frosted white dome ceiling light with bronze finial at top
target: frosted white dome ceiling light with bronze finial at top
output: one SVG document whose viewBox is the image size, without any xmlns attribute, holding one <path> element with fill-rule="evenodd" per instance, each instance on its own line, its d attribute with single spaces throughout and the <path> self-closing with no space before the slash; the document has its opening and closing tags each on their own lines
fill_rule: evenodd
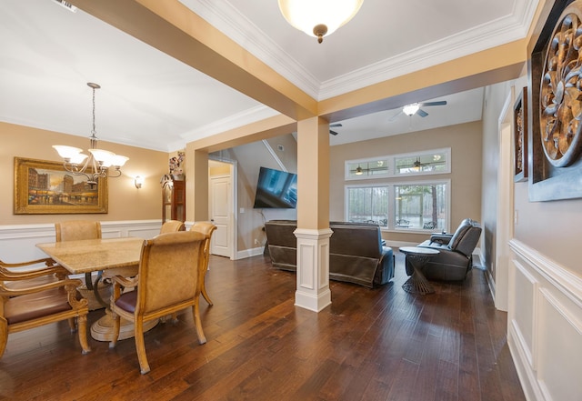
<svg viewBox="0 0 582 401">
<path fill-rule="evenodd" d="M 298 30 L 324 40 L 346 24 L 360 9 L 364 0 L 278 0 L 281 14 Z"/>
</svg>

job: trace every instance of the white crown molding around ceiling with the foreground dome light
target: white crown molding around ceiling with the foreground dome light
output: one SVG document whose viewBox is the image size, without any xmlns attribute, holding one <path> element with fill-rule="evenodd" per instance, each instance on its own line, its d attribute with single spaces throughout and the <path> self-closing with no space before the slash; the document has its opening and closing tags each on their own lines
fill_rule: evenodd
<svg viewBox="0 0 582 401">
<path fill-rule="evenodd" d="M 228 1 L 179 1 L 318 101 L 524 38 L 538 3 L 517 0 L 506 17 L 319 82 Z"/>
</svg>

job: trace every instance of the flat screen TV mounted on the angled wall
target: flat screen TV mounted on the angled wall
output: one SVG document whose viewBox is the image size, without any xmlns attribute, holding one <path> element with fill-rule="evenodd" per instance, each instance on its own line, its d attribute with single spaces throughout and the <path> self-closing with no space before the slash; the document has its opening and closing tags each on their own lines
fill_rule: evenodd
<svg viewBox="0 0 582 401">
<path fill-rule="evenodd" d="M 294 209 L 297 205 L 297 175 L 261 167 L 256 183 L 256 209 Z"/>
</svg>

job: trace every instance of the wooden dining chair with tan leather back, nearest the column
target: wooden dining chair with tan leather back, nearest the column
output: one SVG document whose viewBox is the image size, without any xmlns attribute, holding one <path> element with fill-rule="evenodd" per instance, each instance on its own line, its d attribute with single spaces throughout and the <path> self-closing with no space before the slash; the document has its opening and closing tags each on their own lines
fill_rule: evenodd
<svg viewBox="0 0 582 401">
<path fill-rule="evenodd" d="M 134 324 L 135 349 L 142 374 L 150 371 L 146 357 L 144 323 L 192 308 L 200 344 L 206 343 L 198 310 L 200 288 L 198 271 L 204 263 L 206 236 L 193 231 L 160 234 L 144 241 L 135 279 L 114 276 L 111 312 L 114 333 L 110 347 L 115 347 L 121 319 Z M 135 287 L 123 292 L 125 287 Z"/>
</svg>

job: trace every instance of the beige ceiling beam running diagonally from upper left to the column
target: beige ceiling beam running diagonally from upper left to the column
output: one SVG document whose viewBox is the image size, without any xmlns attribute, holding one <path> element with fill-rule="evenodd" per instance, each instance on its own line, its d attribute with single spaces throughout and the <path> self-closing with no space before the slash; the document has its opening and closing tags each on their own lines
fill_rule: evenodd
<svg viewBox="0 0 582 401">
<path fill-rule="evenodd" d="M 70 3 L 283 115 L 316 115 L 315 99 L 177 0 Z"/>
</svg>

